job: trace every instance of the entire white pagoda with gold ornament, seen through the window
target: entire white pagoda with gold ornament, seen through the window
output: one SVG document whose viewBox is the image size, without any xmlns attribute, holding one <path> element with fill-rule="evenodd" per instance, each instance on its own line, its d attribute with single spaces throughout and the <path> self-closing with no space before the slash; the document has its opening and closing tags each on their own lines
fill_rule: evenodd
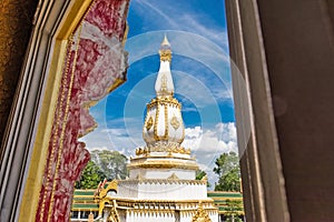
<svg viewBox="0 0 334 222">
<path fill-rule="evenodd" d="M 207 198 L 207 179 L 195 179 L 196 160 L 181 147 L 185 127 L 181 104 L 174 98 L 166 37 L 159 54 L 156 98 L 147 104 L 143 128 L 146 147 L 136 149 L 128 164 L 129 179 L 118 181 L 117 194 L 107 195 L 105 221 L 216 222 L 218 211 Z"/>
</svg>

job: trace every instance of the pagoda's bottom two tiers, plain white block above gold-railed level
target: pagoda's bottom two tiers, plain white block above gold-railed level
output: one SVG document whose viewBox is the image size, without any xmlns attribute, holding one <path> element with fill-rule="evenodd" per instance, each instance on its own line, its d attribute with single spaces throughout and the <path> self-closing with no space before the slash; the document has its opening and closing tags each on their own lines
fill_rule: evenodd
<svg viewBox="0 0 334 222">
<path fill-rule="evenodd" d="M 207 198 L 206 180 L 141 179 L 118 181 L 116 195 L 104 199 L 104 221 L 218 221 Z"/>
</svg>

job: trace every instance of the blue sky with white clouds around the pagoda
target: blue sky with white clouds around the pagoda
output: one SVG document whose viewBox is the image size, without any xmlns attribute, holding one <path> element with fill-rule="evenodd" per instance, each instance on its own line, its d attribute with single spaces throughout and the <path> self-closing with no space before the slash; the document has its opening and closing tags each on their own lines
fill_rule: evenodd
<svg viewBox="0 0 334 222">
<path fill-rule="evenodd" d="M 213 183 L 215 159 L 236 151 L 225 8 L 223 0 L 132 0 L 128 13 L 127 82 L 90 109 L 98 128 L 82 138 L 89 150 L 134 155 L 145 107 L 154 97 L 159 44 L 171 44 L 176 98 L 183 103 L 184 147 L 190 148 Z"/>
</svg>

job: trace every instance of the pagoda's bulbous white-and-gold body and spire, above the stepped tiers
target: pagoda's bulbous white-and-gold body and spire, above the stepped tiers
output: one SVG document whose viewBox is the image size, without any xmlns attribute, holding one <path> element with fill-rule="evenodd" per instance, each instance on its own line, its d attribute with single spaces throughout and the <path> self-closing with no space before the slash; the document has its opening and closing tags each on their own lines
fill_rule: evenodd
<svg viewBox="0 0 334 222">
<path fill-rule="evenodd" d="M 171 48 L 165 36 L 160 50 L 160 68 L 157 74 L 156 98 L 147 104 L 143 138 L 147 147 L 138 149 L 136 154 L 144 152 L 178 152 L 189 154 L 180 147 L 185 138 L 185 127 L 181 117 L 181 104 L 174 98 L 174 82 L 170 71 Z M 148 149 L 149 148 L 149 149 Z"/>
</svg>

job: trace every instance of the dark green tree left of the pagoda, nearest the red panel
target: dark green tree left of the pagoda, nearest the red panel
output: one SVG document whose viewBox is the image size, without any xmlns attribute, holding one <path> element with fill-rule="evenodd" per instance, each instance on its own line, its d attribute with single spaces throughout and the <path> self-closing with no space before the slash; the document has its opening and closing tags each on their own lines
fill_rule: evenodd
<svg viewBox="0 0 334 222">
<path fill-rule="evenodd" d="M 106 178 L 106 174 L 95 162 L 89 161 L 80 180 L 76 182 L 76 189 L 97 189 L 98 184 Z"/>
</svg>

